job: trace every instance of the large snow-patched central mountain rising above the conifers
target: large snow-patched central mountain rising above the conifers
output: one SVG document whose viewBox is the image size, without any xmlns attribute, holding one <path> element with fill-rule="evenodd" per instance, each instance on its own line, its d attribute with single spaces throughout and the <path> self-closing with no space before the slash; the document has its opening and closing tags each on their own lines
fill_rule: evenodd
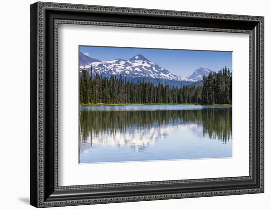
<svg viewBox="0 0 271 210">
<path fill-rule="evenodd" d="M 80 55 L 81 56 L 81 55 Z M 86 56 L 86 55 L 84 55 Z M 88 65 L 80 65 L 80 70 L 86 68 L 87 70 L 93 70 L 93 74 L 100 74 L 102 76 L 111 76 L 111 75 L 125 75 L 127 79 L 159 79 L 166 82 L 170 81 L 184 81 L 184 82 L 195 82 L 196 80 L 177 76 L 170 73 L 168 70 L 160 67 L 156 63 L 148 60 L 143 55 L 138 54 L 134 57 L 123 60 L 115 59 L 111 61 L 96 61 L 91 62 Z M 161 82 L 161 81 L 160 81 Z"/>
</svg>

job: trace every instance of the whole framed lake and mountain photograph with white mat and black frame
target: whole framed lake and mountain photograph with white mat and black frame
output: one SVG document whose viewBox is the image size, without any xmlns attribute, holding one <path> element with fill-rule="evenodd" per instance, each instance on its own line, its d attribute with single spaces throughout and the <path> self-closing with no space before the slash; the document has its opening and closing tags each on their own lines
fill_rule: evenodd
<svg viewBox="0 0 271 210">
<path fill-rule="evenodd" d="M 264 192 L 264 17 L 37 2 L 35 207 Z"/>
</svg>

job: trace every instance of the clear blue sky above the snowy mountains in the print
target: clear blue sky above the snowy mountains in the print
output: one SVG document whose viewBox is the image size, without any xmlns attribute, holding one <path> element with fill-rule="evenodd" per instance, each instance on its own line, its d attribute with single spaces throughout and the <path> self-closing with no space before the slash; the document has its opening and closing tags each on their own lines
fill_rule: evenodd
<svg viewBox="0 0 271 210">
<path fill-rule="evenodd" d="M 217 71 L 227 66 L 232 70 L 232 52 L 93 46 L 79 46 L 79 51 L 100 61 L 128 60 L 142 54 L 170 73 L 185 77 L 200 67 Z"/>
</svg>

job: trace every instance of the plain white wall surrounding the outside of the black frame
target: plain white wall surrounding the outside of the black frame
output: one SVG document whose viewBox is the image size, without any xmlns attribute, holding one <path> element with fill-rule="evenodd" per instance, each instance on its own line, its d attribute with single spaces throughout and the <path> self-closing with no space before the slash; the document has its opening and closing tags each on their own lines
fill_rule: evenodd
<svg viewBox="0 0 271 210">
<path fill-rule="evenodd" d="M 267 0 L 50 0 L 151 9 L 265 16 L 265 193 L 223 197 L 144 201 L 59 209 L 138 210 L 270 209 L 271 198 L 271 13 Z M 29 206 L 29 4 L 34 0 L 1 2 L 0 12 L 0 207 L 34 209 Z M 56 208 L 52 208 L 56 209 Z"/>
</svg>

